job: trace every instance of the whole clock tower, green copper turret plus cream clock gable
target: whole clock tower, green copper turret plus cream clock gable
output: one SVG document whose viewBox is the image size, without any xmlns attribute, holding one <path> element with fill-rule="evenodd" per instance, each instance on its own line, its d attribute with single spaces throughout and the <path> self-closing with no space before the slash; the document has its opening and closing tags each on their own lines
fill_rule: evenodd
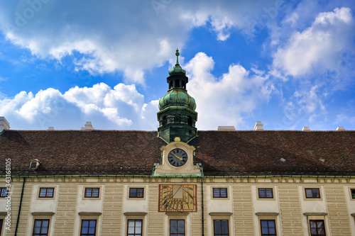
<svg viewBox="0 0 355 236">
<path fill-rule="evenodd" d="M 160 148 L 162 159 L 155 165 L 155 175 L 200 176 L 201 168 L 195 164 L 195 147 L 188 145 L 197 136 L 197 112 L 195 99 L 187 94 L 188 78 L 179 64 L 179 50 L 176 50 L 176 64 L 169 71 L 168 93 L 159 100 L 158 137 L 167 145 Z"/>
</svg>

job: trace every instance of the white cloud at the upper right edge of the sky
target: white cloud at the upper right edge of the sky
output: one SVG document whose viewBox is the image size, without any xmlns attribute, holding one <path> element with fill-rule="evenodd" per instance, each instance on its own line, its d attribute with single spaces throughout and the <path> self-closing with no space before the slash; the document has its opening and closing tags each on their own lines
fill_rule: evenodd
<svg viewBox="0 0 355 236">
<path fill-rule="evenodd" d="M 286 76 L 299 77 L 336 69 L 342 53 L 353 50 L 354 35 L 349 8 L 319 13 L 312 26 L 293 33 L 288 43 L 275 52 L 275 75 L 281 71 Z"/>
</svg>

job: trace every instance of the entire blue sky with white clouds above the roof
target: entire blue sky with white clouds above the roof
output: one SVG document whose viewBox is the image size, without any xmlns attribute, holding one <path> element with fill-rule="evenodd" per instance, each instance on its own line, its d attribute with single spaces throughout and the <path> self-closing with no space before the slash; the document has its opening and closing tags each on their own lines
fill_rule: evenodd
<svg viewBox="0 0 355 236">
<path fill-rule="evenodd" d="M 180 49 L 199 130 L 355 127 L 354 1 L 0 1 L 13 130 L 157 130 Z"/>
</svg>

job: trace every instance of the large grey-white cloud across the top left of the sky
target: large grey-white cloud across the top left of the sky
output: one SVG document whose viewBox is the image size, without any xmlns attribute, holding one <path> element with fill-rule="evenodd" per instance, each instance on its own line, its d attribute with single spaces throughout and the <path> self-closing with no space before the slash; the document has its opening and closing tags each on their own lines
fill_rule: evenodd
<svg viewBox="0 0 355 236">
<path fill-rule="evenodd" d="M 250 35 L 251 20 L 266 14 L 263 9 L 275 1 L 154 3 L 6 1 L 0 3 L 0 26 L 12 43 L 37 57 L 71 56 L 77 70 L 120 71 L 126 83 L 144 84 L 144 72 L 164 64 L 184 45 L 192 28 L 208 25 L 222 41 L 232 28 Z"/>
</svg>

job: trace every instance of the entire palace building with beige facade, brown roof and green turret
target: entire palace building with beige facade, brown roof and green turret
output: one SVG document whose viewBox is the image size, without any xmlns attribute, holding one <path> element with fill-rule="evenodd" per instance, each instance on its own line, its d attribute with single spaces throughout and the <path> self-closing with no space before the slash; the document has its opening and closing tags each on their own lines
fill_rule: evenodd
<svg viewBox="0 0 355 236">
<path fill-rule="evenodd" d="M 0 118 L 0 235 L 355 236 L 355 131 L 197 130 L 176 56 L 158 132 Z"/>
</svg>

